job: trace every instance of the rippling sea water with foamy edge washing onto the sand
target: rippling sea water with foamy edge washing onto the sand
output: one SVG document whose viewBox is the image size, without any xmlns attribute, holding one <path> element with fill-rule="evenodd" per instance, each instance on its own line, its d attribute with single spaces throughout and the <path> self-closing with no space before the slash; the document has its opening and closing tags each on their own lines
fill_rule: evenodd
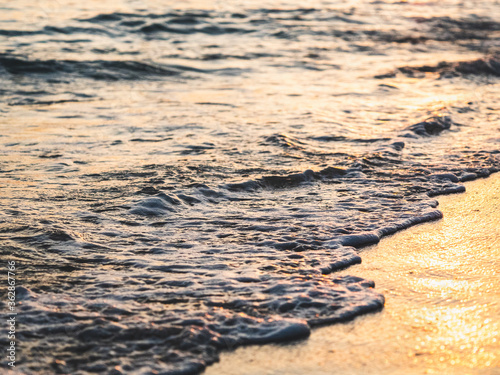
<svg viewBox="0 0 500 375">
<path fill-rule="evenodd" d="M 0 38 L 19 373 L 196 374 L 379 311 L 335 271 L 500 168 L 498 1 L 21 0 Z"/>
</svg>

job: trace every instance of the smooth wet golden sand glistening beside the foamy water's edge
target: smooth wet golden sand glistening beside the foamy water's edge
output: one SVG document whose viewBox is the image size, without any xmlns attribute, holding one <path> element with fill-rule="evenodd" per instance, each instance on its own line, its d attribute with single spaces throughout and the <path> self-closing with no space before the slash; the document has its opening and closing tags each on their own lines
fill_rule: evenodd
<svg viewBox="0 0 500 375">
<path fill-rule="evenodd" d="M 342 274 L 385 308 L 288 345 L 223 353 L 205 374 L 500 374 L 500 174 L 439 197 L 444 218 L 362 250 Z"/>
</svg>

